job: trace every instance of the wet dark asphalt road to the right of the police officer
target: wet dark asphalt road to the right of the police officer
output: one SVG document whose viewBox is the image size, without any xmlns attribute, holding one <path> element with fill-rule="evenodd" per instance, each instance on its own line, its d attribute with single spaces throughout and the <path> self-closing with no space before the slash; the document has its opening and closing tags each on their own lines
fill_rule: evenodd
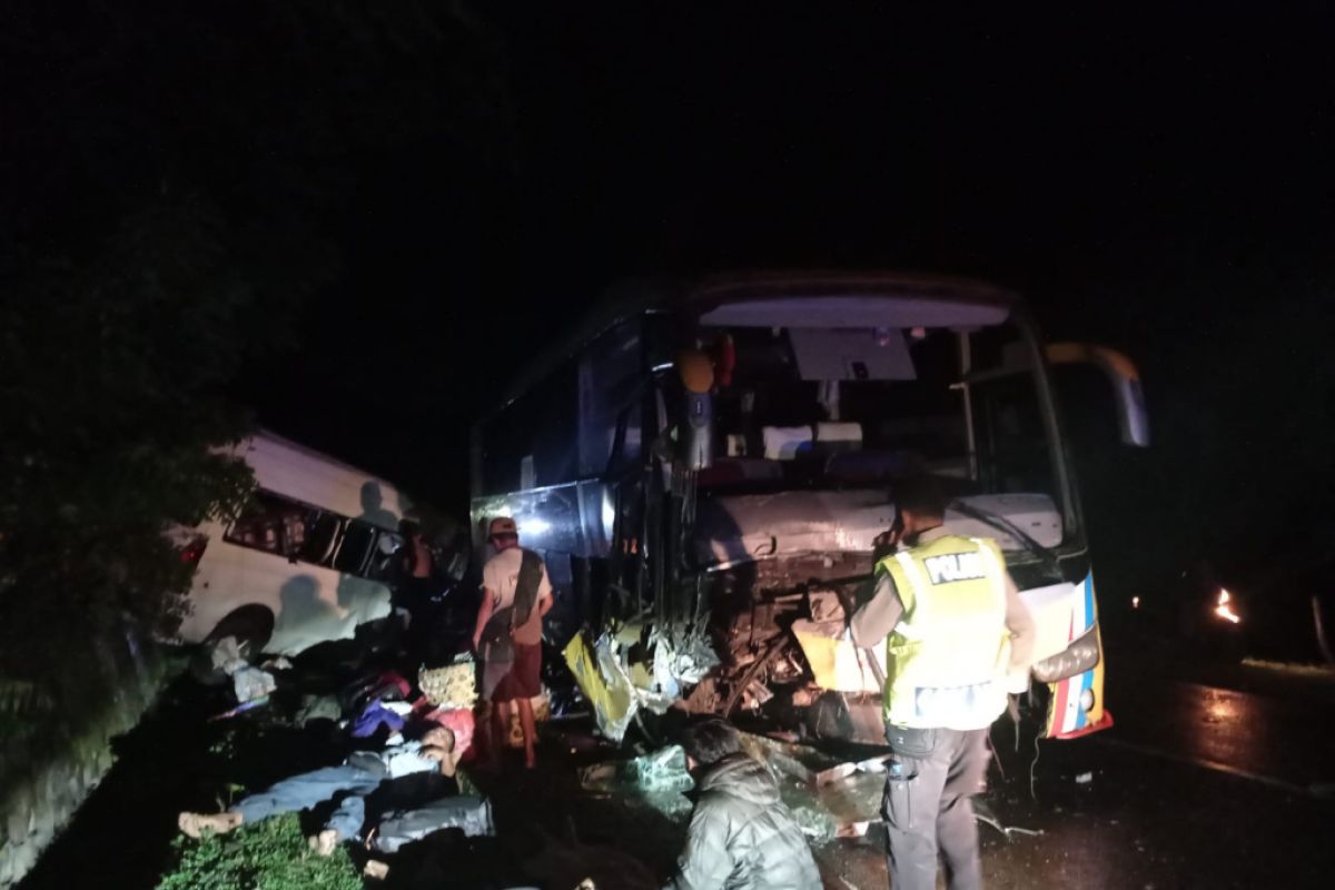
<svg viewBox="0 0 1335 890">
<path fill-rule="evenodd" d="M 1021 831 L 983 827 L 989 887 L 1335 886 L 1330 687 L 1271 678 L 1243 693 L 1133 666 L 1117 677 L 1116 726 L 1043 742 L 1036 765 L 995 730 L 988 803 Z M 821 859 L 826 886 L 886 886 L 872 838 Z"/>
</svg>

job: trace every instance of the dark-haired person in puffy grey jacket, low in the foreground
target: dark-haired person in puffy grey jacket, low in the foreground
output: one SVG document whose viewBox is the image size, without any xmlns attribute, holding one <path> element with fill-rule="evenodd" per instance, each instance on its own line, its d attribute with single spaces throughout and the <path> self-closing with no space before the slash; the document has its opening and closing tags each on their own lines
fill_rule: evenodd
<svg viewBox="0 0 1335 890">
<path fill-rule="evenodd" d="M 712 718 L 689 727 L 682 747 L 700 797 L 666 890 L 818 890 L 801 829 L 737 730 Z"/>
</svg>

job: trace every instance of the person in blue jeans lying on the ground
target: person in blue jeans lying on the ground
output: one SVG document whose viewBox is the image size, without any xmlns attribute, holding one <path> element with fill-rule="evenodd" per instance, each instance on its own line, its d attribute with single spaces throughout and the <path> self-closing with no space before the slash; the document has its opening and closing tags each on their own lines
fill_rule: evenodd
<svg viewBox="0 0 1335 890">
<path fill-rule="evenodd" d="M 437 726 L 425 731 L 419 741 L 394 745 L 380 753 L 356 751 L 342 766 L 327 766 L 283 779 L 259 794 L 242 798 L 226 813 L 182 813 L 178 825 L 192 838 L 204 831 L 227 834 L 240 825 L 283 813 L 298 813 L 346 794 L 324 829 L 311 838 L 311 846 L 320 855 L 328 855 L 339 842 L 356 839 L 366 821 L 366 795 L 378 789 L 380 782 L 417 773 L 439 771 L 454 775 L 457 762 L 454 733 Z"/>
</svg>

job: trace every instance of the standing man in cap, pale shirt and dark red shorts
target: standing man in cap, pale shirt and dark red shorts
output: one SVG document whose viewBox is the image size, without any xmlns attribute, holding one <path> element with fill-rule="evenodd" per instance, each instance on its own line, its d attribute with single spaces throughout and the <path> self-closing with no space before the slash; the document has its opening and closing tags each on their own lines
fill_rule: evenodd
<svg viewBox="0 0 1335 890">
<path fill-rule="evenodd" d="M 482 568 L 482 604 L 473 630 L 473 648 L 482 658 L 482 697 L 491 705 L 495 758 L 509 731 L 510 707 L 519 709 L 523 763 L 535 765 L 537 727 L 531 699 L 542 694 L 542 616 L 551 608 L 551 582 L 542 556 L 519 547 L 514 519 L 491 520 L 487 540 L 495 555 Z"/>
</svg>

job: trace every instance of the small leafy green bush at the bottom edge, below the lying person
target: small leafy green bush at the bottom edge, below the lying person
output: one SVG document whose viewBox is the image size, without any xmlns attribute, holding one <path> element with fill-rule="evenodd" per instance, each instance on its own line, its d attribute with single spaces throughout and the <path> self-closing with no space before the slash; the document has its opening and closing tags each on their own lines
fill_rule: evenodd
<svg viewBox="0 0 1335 890">
<path fill-rule="evenodd" d="M 200 841 L 180 838 L 174 849 L 179 861 L 158 890 L 362 890 L 347 849 L 318 855 L 296 815 Z"/>
</svg>

